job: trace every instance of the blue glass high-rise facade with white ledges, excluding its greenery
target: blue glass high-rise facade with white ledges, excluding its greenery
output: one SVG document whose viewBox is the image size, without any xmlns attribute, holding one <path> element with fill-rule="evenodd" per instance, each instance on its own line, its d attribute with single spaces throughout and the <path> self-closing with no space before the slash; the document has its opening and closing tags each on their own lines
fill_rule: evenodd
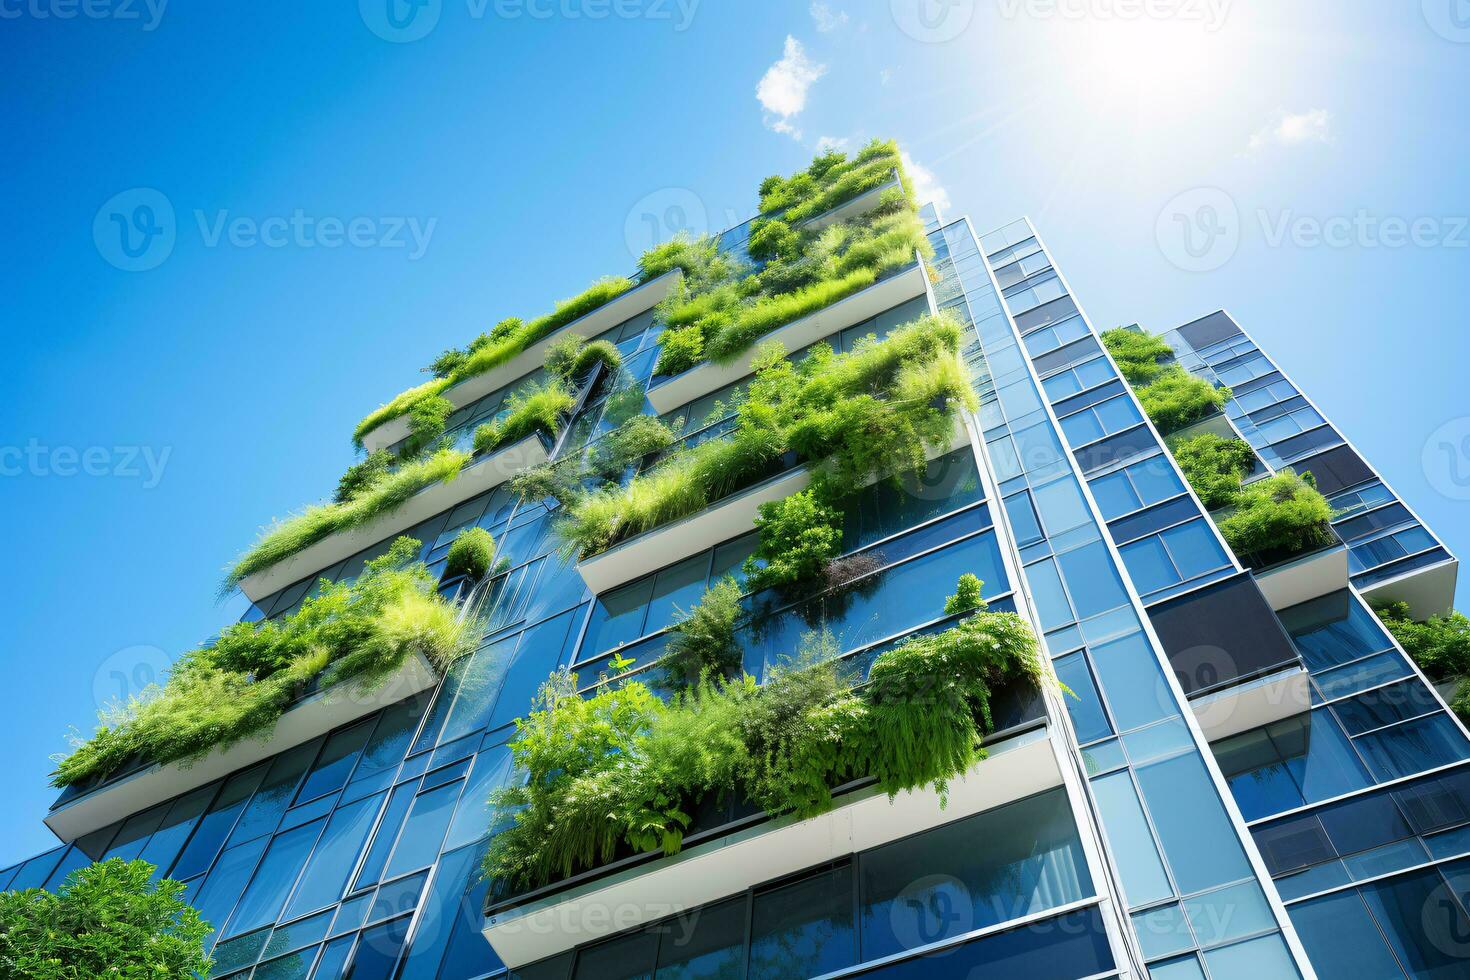
<svg viewBox="0 0 1470 980">
<path fill-rule="evenodd" d="M 654 663 L 681 610 L 739 576 L 753 491 L 779 497 L 791 473 L 716 501 L 698 529 L 582 563 L 557 547 L 553 500 L 462 478 L 412 526 L 351 552 L 326 542 L 291 580 L 244 588 L 248 619 L 282 617 L 398 533 L 438 570 L 481 526 L 500 563 L 475 652 L 370 702 L 301 711 L 238 765 L 69 789 L 47 815 L 63 843 L 0 887 L 147 860 L 213 924 L 213 976 L 257 980 L 1470 976 L 1470 741 L 1367 605 L 1446 610 L 1454 558 L 1216 313 L 1167 335 L 1180 364 L 1232 388 L 1204 425 L 1250 441 L 1261 475 L 1311 470 L 1341 511 L 1332 547 L 1244 566 L 1030 223 L 980 235 L 923 213 L 928 273 L 873 284 L 817 339 L 845 350 L 947 310 L 980 408 L 922 478 L 847 508 L 861 588 L 763 607 L 741 645 L 760 679 L 817 619 L 842 657 L 872 663 L 951 624 L 945 597 L 979 576 L 989 608 L 1032 623 L 1066 691 L 1001 692 L 988 758 L 944 807 L 861 783 L 804 821 L 732 802 L 695 814 L 675 857 L 492 889 L 487 799 L 516 779 L 507 742 L 538 685 L 559 667 L 594 677 L 613 655 Z M 742 251 L 745 234 L 722 247 Z M 685 420 L 686 444 L 729 429 L 711 408 L 739 378 L 654 375 L 659 294 L 637 295 L 651 285 L 595 322 L 622 367 L 550 455 L 606 435 L 626 392 Z M 528 373 L 457 406 L 451 438 L 503 413 Z"/>
</svg>

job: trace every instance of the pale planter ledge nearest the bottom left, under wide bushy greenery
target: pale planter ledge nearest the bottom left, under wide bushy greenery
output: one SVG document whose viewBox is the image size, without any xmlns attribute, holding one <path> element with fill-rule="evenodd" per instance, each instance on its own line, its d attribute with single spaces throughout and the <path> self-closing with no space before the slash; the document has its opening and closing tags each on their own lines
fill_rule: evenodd
<svg viewBox="0 0 1470 980">
<path fill-rule="evenodd" d="M 71 842 L 100 830 L 148 807 L 270 758 L 304 742 L 326 735 L 373 711 L 428 691 L 440 680 L 429 663 L 413 655 L 381 688 L 359 695 L 351 682 L 319 691 L 281 716 L 269 738 L 245 739 L 225 749 L 210 751 L 188 763 L 163 763 L 106 782 L 72 798 L 63 795 L 46 817 L 46 826 Z"/>
</svg>

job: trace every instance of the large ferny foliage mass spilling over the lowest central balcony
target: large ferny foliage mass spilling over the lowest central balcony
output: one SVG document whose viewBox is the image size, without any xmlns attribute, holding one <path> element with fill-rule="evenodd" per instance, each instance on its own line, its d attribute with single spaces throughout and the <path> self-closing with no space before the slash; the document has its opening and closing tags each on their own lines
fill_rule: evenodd
<svg viewBox="0 0 1470 980">
<path fill-rule="evenodd" d="M 553 674 L 510 742 L 526 779 L 494 796 L 504 823 L 487 874 L 531 889 L 628 851 L 675 854 L 704 801 L 807 818 L 866 777 L 942 799 L 985 757 L 991 692 L 1045 676 L 1025 621 L 983 607 L 885 651 L 861 686 L 832 646 L 814 638 L 764 685 L 706 673 L 667 702 L 634 679 L 582 695 L 575 674 Z"/>
</svg>

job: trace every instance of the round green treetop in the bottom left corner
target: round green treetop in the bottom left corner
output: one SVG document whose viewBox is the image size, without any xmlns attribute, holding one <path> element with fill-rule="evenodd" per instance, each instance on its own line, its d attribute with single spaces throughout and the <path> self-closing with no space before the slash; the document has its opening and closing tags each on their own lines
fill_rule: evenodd
<svg viewBox="0 0 1470 980">
<path fill-rule="evenodd" d="M 53 893 L 0 893 L 0 977 L 193 980 L 209 974 L 209 923 L 184 884 L 151 882 L 147 861 L 110 858 Z"/>
</svg>

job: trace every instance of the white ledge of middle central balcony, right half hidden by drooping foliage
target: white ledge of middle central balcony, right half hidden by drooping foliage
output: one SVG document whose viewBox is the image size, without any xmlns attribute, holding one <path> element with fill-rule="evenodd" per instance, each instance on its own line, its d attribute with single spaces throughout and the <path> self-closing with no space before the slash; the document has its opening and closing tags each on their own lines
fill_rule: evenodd
<svg viewBox="0 0 1470 980">
<path fill-rule="evenodd" d="M 950 442 L 932 450 L 928 455 L 931 460 L 938 458 L 966 445 L 969 439 L 964 414 L 957 413 Z M 806 489 L 810 480 L 810 470 L 804 466 L 778 473 L 710 504 L 697 514 L 653 527 L 601 554 L 584 558 L 578 563 L 576 570 L 587 582 L 587 588 L 594 595 L 601 595 L 642 574 L 657 572 L 751 530 L 761 504 L 791 497 Z"/>
</svg>

